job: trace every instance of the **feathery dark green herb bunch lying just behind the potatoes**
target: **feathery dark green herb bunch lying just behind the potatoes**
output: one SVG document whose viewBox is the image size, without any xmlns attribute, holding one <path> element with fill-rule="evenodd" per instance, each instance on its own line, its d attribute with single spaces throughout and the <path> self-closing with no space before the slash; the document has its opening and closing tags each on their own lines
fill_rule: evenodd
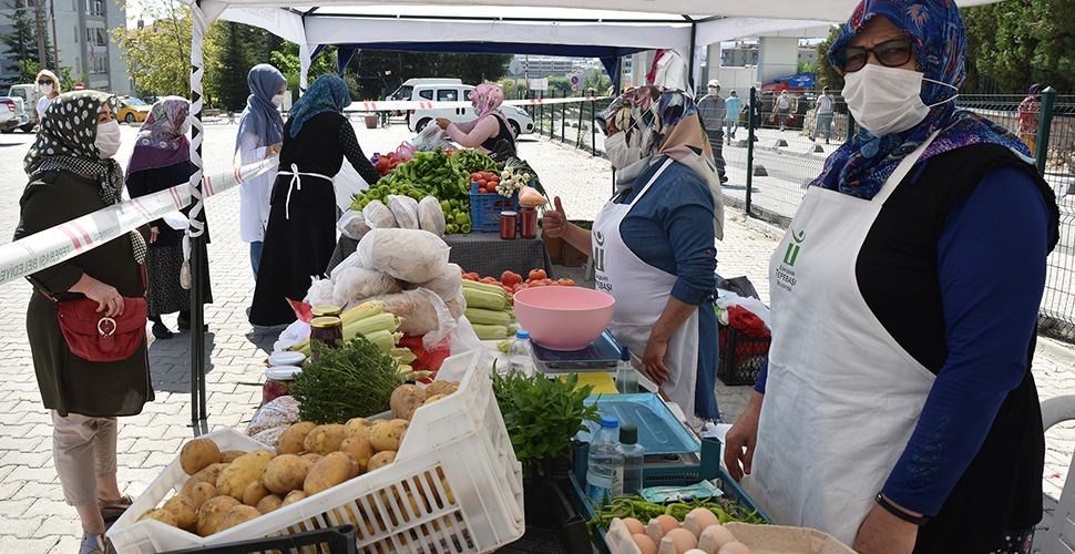
<svg viewBox="0 0 1075 554">
<path fill-rule="evenodd" d="M 359 335 L 339 348 L 314 342 L 318 361 L 308 362 L 288 387 L 303 421 L 346 423 L 389 410 L 392 391 L 403 384 L 396 360 Z"/>
</svg>

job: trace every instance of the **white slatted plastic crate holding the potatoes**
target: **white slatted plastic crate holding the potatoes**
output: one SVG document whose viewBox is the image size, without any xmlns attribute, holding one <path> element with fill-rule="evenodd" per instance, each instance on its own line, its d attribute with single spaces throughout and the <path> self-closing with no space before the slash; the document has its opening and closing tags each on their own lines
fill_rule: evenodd
<svg viewBox="0 0 1075 554">
<path fill-rule="evenodd" d="M 176 456 L 115 522 L 109 537 L 119 554 L 151 554 L 350 524 L 358 552 L 366 554 L 479 554 L 508 544 L 525 529 L 522 465 L 481 350 L 446 359 L 438 378 L 458 379 L 459 390 L 414 412 L 396 461 L 386 468 L 199 537 L 157 521 L 135 522 L 190 479 Z M 264 450 L 234 429 L 205 437 L 221 450 Z M 417 501 L 401 502 L 403 497 Z"/>
</svg>

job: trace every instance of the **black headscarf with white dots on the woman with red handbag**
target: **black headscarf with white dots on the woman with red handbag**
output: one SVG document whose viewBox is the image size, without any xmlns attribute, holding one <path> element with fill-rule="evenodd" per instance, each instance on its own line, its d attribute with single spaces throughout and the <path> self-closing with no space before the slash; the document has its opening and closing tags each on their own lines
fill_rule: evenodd
<svg viewBox="0 0 1075 554">
<path fill-rule="evenodd" d="M 120 102 L 112 94 L 98 91 L 75 91 L 61 94 L 49 105 L 49 116 L 41 123 L 30 152 L 22 160 L 30 181 L 50 171 L 66 170 L 91 175 L 101 182 L 101 199 L 105 205 L 120 202 L 123 192 L 123 168 L 114 157 L 101 160 L 98 138 L 98 114 L 109 104 L 112 113 Z M 145 259 L 145 240 L 136 230 L 131 233 L 134 259 Z"/>
</svg>

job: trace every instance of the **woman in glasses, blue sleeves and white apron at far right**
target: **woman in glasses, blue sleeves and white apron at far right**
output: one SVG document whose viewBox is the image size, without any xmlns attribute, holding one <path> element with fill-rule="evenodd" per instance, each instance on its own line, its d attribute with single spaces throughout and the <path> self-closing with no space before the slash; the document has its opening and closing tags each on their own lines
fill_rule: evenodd
<svg viewBox="0 0 1075 554">
<path fill-rule="evenodd" d="M 863 554 L 1026 552 L 1042 517 L 1027 352 L 1058 215 L 1026 146 L 955 109 L 964 48 L 932 0 L 864 0 L 832 44 L 863 133 L 772 256 L 768 368 L 727 434 L 775 522 Z"/>
</svg>

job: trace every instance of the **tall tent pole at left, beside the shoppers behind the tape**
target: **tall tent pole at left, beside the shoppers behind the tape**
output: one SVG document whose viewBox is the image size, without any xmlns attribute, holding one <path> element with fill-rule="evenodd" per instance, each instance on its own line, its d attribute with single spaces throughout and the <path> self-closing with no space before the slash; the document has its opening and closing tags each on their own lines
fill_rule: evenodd
<svg viewBox="0 0 1075 554">
<path fill-rule="evenodd" d="M 194 205 L 191 208 L 191 227 L 187 236 L 191 240 L 191 427 L 194 428 L 194 435 L 197 437 L 208 432 L 206 418 L 208 413 L 205 406 L 205 331 L 203 321 L 205 320 L 204 306 L 202 299 L 205 291 L 202 289 L 202 276 L 206 274 L 203 266 L 208 263 L 203 259 L 203 245 L 205 240 L 205 213 L 203 212 L 204 197 L 202 196 L 202 141 L 205 134 L 205 125 L 202 123 L 202 74 L 204 63 L 202 61 L 202 41 L 208 29 L 208 22 L 202 12 L 202 2 L 198 0 L 191 6 L 192 18 L 192 45 L 191 45 L 191 195 Z"/>
</svg>

